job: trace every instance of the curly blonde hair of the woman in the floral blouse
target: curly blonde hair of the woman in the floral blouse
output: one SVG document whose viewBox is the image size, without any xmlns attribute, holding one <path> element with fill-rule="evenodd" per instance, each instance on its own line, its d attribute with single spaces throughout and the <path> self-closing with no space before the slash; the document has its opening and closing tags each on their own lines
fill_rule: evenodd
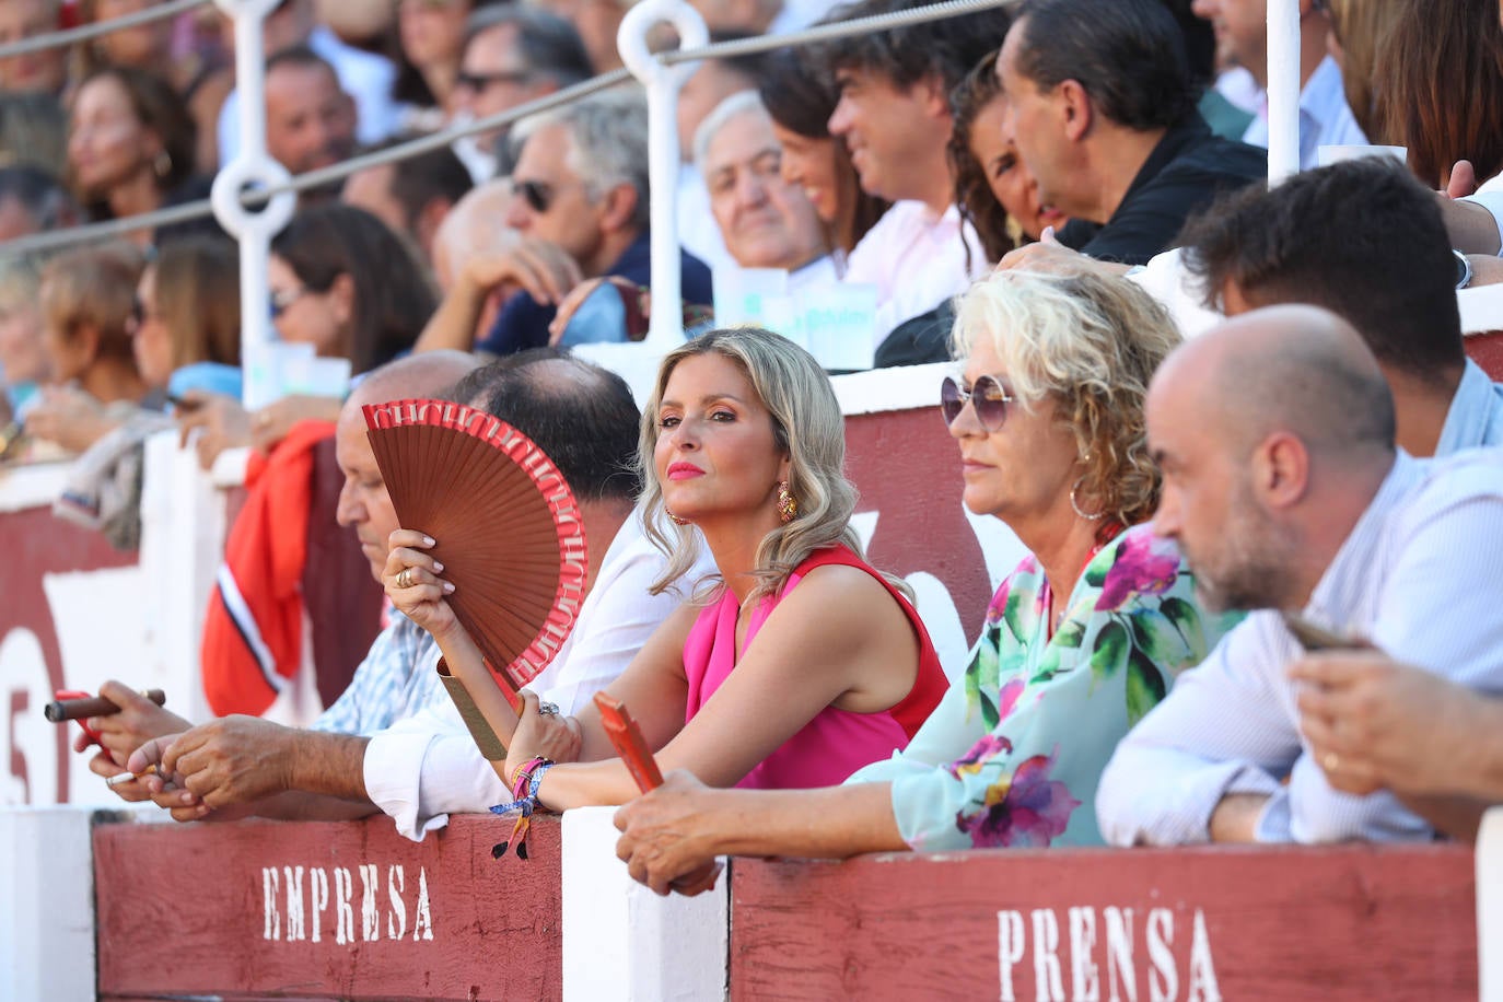
<svg viewBox="0 0 1503 1002">
<path fill-rule="evenodd" d="M 1076 500 L 1124 526 L 1153 515 L 1159 469 L 1148 457 L 1148 382 L 1180 344 L 1174 320 L 1126 278 L 993 272 L 956 311 L 957 359 L 989 338 L 1018 404 L 1046 398 L 1075 436 L 1082 479 Z"/>
</svg>

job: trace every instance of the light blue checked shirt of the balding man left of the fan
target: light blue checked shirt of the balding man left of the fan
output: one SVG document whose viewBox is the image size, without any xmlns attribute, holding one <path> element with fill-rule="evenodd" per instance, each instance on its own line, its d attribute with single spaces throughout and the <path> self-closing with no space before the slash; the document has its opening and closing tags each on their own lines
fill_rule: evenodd
<svg viewBox="0 0 1503 1002">
<path fill-rule="evenodd" d="M 439 673 L 439 644 L 427 629 L 397 610 L 355 678 L 334 706 L 313 721 L 313 730 L 373 735 L 449 699 Z"/>
</svg>

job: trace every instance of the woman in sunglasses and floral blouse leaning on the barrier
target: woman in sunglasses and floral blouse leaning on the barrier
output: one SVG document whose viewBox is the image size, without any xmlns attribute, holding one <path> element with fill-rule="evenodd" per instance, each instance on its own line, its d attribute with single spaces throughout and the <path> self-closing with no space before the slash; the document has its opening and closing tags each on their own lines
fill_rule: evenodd
<svg viewBox="0 0 1503 1002">
<path fill-rule="evenodd" d="M 670 777 L 618 814 L 633 876 L 697 892 L 718 853 L 1102 844 L 1106 760 L 1223 628 L 1144 524 L 1159 497 L 1144 398 L 1177 341 L 1124 279 L 1013 270 L 972 285 L 941 412 L 966 508 L 1031 556 L 996 590 L 965 684 L 905 751 L 840 787 L 742 795 Z"/>
</svg>

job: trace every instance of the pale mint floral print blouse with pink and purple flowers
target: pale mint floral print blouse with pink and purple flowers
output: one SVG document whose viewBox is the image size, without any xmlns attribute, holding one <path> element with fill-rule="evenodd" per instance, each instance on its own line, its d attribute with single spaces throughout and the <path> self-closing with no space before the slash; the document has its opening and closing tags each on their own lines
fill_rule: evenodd
<svg viewBox="0 0 1503 1002">
<path fill-rule="evenodd" d="M 1117 742 L 1240 616 L 1211 616 L 1174 542 L 1117 535 L 1085 566 L 1049 635 L 1030 554 L 986 611 L 965 684 L 905 751 L 848 783 L 891 783 L 914 849 L 1100 846 L 1096 784 Z"/>
</svg>

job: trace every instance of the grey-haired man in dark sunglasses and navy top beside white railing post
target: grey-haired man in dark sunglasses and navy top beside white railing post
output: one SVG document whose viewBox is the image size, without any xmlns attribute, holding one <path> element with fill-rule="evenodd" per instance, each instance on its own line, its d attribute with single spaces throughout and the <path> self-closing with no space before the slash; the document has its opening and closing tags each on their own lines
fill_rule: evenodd
<svg viewBox="0 0 1503 1002">
<path fill-rule="evenodd" d="M 507 222 L 511 248 L 466 261 L 428 321 L 416 350 L 511 355 L 549 344 L 558 305 L 588 278 L 651 281 L 648 234 L 648 114 L 640 92 L 610 92 L 523 119 L 513 131 L 522 153 Z M 682 296 L 709 303 L 709 269 L 679 254 Z M 487 297 L 510 293 L 490 332 L 473 340 Z M 624 341 L 627 326 L 588 341 Z M 565 338 L 565 343 L 573 343 Z"/>
</svg>

